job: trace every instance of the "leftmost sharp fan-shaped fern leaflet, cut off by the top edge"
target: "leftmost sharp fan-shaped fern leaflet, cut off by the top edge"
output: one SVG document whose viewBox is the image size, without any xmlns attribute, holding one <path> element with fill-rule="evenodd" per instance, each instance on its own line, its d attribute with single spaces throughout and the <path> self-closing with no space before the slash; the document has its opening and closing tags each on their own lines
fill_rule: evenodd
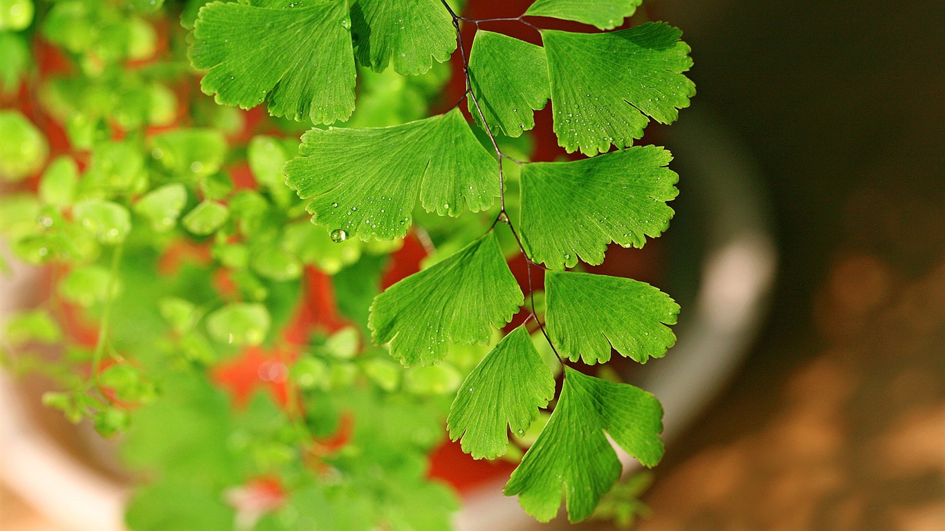
<svg viewBox="0 0 945 531">
<path fill-rule="evenodd" d="M 354 58 L 344 1 L 257 7 L 215 2 L 200 9 L 190 60 L 217 103 L 316 124 L 354 110 Z M 287 9 L 286 9 L 287 8 Z"/>
</svg>

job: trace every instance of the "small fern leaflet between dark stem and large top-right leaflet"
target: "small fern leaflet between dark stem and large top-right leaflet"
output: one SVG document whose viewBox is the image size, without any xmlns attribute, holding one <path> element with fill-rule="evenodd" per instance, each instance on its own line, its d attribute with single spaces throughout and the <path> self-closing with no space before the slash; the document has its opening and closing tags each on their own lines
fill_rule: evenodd
<svg viewBox="0 0 945 531">
<path fill-rule="evenodd" d="M 534 128 L 534 111 L 543 109 L 551 97 L 548 64 L 541 46 L 501 33 L 476 32 L 470 52 L 470 77 L 472 94 L 492 132 L 511 137 Z M 472 98 L 468 105 L 481 126 Z"/>
</svg>

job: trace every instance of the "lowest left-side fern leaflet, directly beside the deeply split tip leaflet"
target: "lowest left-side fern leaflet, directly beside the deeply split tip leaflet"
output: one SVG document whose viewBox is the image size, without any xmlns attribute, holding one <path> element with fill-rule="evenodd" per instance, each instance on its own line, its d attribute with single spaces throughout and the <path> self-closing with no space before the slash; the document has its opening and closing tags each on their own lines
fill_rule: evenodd
<svg viewBox="0 0 945 531">
<path fill-rule="evenodd" d="M 505 454 L 508 430 L 523 435 L 555 398 L 555 378 L 524 326 L 506 335 L 460 385 L 447 429 L 472 458 Z"/>
</svg>

